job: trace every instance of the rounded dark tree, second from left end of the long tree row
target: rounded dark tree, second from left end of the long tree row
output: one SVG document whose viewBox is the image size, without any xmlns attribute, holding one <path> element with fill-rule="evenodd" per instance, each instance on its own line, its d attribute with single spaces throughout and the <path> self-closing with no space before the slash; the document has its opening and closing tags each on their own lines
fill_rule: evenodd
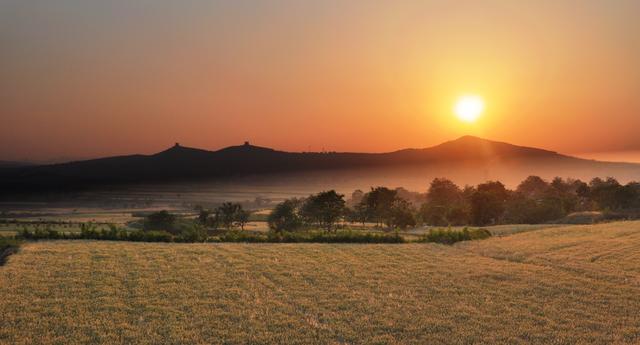
<svg viewBox="0 0 640 345">
<path fill-rule="evenodd" d="M 335 190 L 309 196 L 302 205 L 301 215 L 309 223 L 331 230 L 345 213 L 344 195 Z"/>
</svg>

